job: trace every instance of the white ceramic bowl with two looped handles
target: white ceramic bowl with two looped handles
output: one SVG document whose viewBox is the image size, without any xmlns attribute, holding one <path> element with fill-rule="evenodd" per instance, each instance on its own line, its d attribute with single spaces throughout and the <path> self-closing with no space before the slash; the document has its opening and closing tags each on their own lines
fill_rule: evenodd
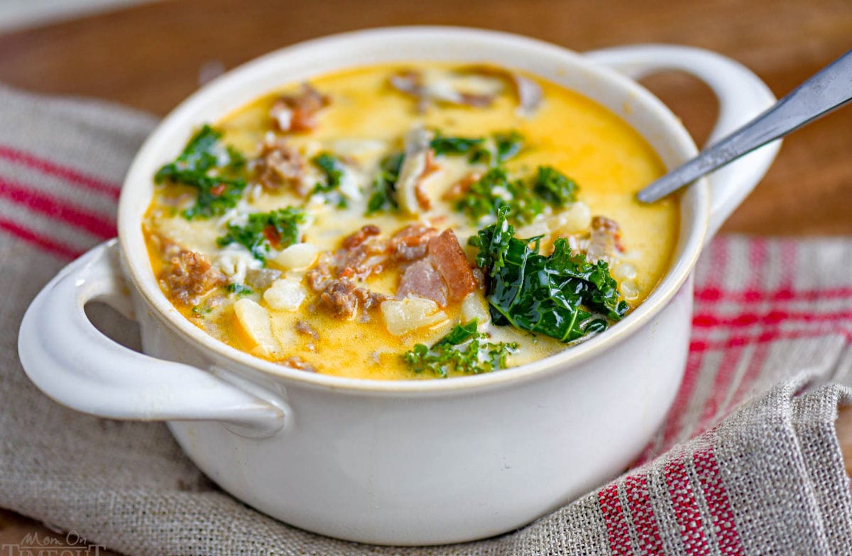
<svg viewBox="0 0 852 556">
<path fill-rule="evenodd" d="M 525 37 L 410 27 L 282 49 L 199 90 L 135 158 L 118 241 L 66 267 L 32 302 L 20 359 L 60 404 L 97 416 L 169 421 L 224 490 L 287 523 L 383 544 L 468 541 L 511 530 L 625 469 L 660 426 L 682 377 L 690 273 L 705 238 L 751 191 L 778 145 L 682 197 L 676 260 L 641 307 L 606 333 L 534 364 L 446 381 L 358 381 L 271 364 L 214 340 L 158 288 L 141 218 L 155 170 L 192 130 L 270 89 L 346 66 L 396 60 L 492 61 L 576 89 L 619 114 L 670 168 L 693 141 L 636 77 L 694 73 L 720 100 L 714 136 L 774 101 L 733 60 L 660 45 L 575 54 Z M 614 68 L 614 69 L 613 69 Z M 141 324 L 147 355 L 101 335 L 83 312 L 106 301 Z"/>
</svg>

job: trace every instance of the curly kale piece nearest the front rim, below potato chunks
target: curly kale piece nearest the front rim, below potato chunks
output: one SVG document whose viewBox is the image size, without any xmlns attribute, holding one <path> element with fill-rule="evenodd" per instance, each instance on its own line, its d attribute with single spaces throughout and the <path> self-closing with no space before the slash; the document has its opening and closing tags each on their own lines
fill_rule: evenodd
<svg viewBox="0 0 852 556">
<path fill-rule="evenodd" d="M 478 375 L 505 369 L 506 358 L 518 348 L 518 344 L 483 341 L 488 335 L 478 332 L 476 325 L 475 318 L 465 324 L 456 324 L 449 334 L 436 341 L 431 348 L 417 344 L 402 358 L 409 369 L 416 373 L 429 371 L 442 377 L 451 372 Z"/>
</svg>

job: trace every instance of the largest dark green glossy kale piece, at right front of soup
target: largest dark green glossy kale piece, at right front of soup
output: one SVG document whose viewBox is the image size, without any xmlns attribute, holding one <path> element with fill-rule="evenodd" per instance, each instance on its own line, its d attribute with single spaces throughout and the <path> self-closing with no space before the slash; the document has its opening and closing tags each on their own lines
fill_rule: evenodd
<svg viewBox="0 0 852 556">
<path fill-rule="evenodd" d="M 494 324 L 574 341 L 625 315 L 627 303 L 619 301 L 605 261 L 592 264 L 572 254 L 564 238 L 556 239 L 553 253 L 539 255 L 540 237 L 512 237 L 508 213 L 507 207 L 499 209 L 497 222 L 469 240 L 480 249 L 477 264 L 487 267 Z"/>
</svg>

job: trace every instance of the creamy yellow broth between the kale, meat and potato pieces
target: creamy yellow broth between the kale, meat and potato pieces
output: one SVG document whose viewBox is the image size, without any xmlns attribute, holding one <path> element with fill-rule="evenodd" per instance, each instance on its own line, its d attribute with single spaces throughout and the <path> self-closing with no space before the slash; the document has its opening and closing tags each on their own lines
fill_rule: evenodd
<svg viewBox="0 0 852 556">
<path fill-rule="evenodd" d="M 491 106 L 432 102 L 420 113 L 416 100 L 389 85 L 390 76 L 412 67 L 440 72 L 453 66 L 422 63 L 369 66 L 314 78 L 310 84 L 327 95 L 330 104 L 317 112 L 317 125 L 309 132 L 276 131 L 269 115 L 279 95 L 294 93 L 299 84 L 264 95 L 214 123 L 216 129 L 222 130 L 223 143 L 245 153 L 249 160 L 258 156 L 259 145 L 270 133 L 286 140 L 305 160 L 320 152 L 331 152 L 351 164 L 362 191 L 360 199 L 348 199 L 348 208 L 340 209 L 316 196 L 301 196 L 292 188 L 270 191 L 250 180 L 244 191 L 242 209 L 266 212 L 288 205 L 305 207 L 308 222 L 300 226 L 301 241 L 320 252 L 338 249 L 344 237 L 366 224 L 378 226 L 383 237 L 418 221 L 439 232 L 451 227 L 472 266 L 476 249 L 467 245 L 467 239 L 483 224 L 471 221 L 455 210 L 451 201 L 442 199 L 448 187 L 469 174 L 471 165 L 466 157 L 435 158 L 438 169 L 422 181 L 431 207 L 417 215 L 380 213 L 366 216 L 372 176 L 385 155 L 403 148 L 403 140 L 415 124 L 440 130 L 446 136 L 481 137 L 516 130 L 524 138 L 524 148 L 518 156 L 504 163 L 505 169 L 511 174 L 525 175 L 539 165 L 550 165 L 576 181 L 578 203 L 588 207 L 590 215 L 604 215 L 619 224 L 624 249 L 619 252 L 611 271 L 630 308 L 641 303 L 669 265 L 678 228 L 675 199 L 643 205 L 634 198 L 639 188 L 664 172 L 658 156 L 642 136 L 596 102 L 533 76 L 527 77 L 538 83 L 543 100 L 531 114 L 519 111 L 516 95 L 505 80 L 502 92 Z M 320 175 L 310 163 L 307 166 L 308 173 Z M 224 273 L 227 283 L 245 280 L 239 272 L 229 272 L 233 270 L 229 266 L 233 257 L 222 262 L 222 247 L 216 244 L 216 238 L 223 235 L 228 218 L 234 213 L 187 220 L 180 212 L 192 204 L 193 198 L 190 186 L 167 183 L 157 187 L 144 223 L 153 272 L 158 277 L 169 272 L 174 250 L 169 251 L 164 245 L 171 245 L 172 249 L 177 246 L 206 256 L 214 271 Z M 542 249 L 546 254 L 546 249 L 559 235 L 559 230 L 553 229 L 558 228 L 559 216 L 571 210 L 571 205 L 552 209 L 537 221 L 516 226 L 515 235 L 527 238 L 544 234 Z M 576 236 L 582 242 L 583 232 L 576 232 Z M 228 249 L 239 251 L 234 245 Z M 243 261 L 250 261 L 247 253 L 246 249 Z M 317 294 L 304 286 L 305 273 L 310 268 L 288 270 L 276 262 L 276 255 L 273 249 L 266 267 L 280 270 L 282 279 L 294 284 L 301 282 L 307 294 L 296 310 L 276 310 L 269 307 L 262 290 L 252 289 L 248 295 L 239 295 L 228 292 L 224 283 L 204 292 L 192 303 L 181 303 L 174 296 L 172 301 L 193 324 L 233 347 L 282 364 L 292 364 L 297 358 L 306 369 L 329 375 L 388 380 L 432 378 L 434 375 L 429 373 L 412 372 L 401 354 L 417 343 L 432 345 L 472 314 L 481 315 L 480 331 L 490 336 L 489 341 L 518 344 L 515 352 L 509 355 L 509 366 L 570 349 L 565 343 L 544 335 L 482 322 L 488 318 L 485 290 L 481 287 L 464 307 L 455 302 L 441 308 L 445 319 L 403 334 L 391 333 L 383 313 L 377 309 L 360 312 L 358 318 L 352 320 L 336 318 L 318 307 Z M 359 284 L 393 296 L 404 268 L 390 268 Z M 164 291 L 170 295 L 165 284 Z M 253 328 L 258 325 L 256 319 L 239 318 L 234 307 L 241 300 L 255 303 L 250 306 L 255 310 L 252 315 L 261 319 L 262 330 Z M 249 307 L 245 301 L 241 303 L 241 307 Z M 258 307 L 261 312 L 256 311 Z M 471 307 L 479 309 L 471 312 Z M 301 331 L 297 330 L 298 323 L 302 324 Z"/>
</svg>

